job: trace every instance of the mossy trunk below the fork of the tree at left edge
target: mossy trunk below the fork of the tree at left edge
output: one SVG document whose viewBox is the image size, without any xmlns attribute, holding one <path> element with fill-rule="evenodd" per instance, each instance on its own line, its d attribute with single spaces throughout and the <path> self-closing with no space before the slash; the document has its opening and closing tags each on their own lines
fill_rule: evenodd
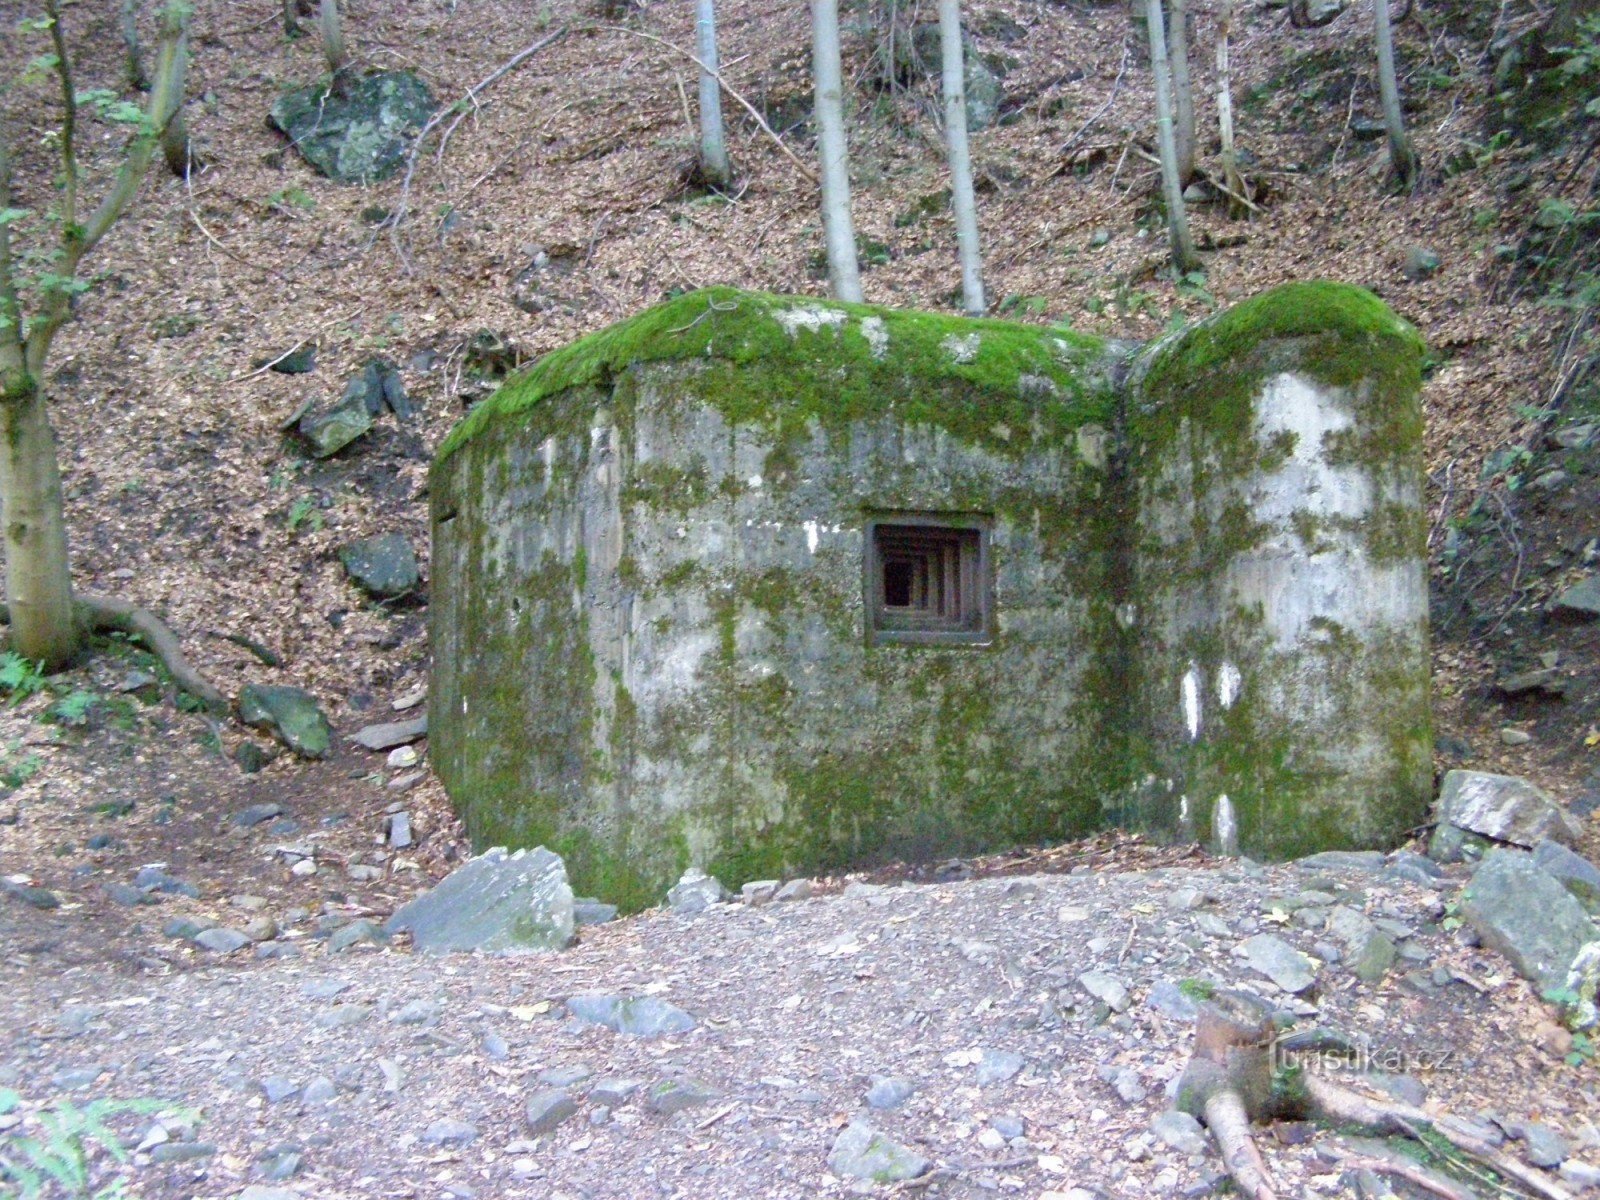
<svg viewBox="0 0 1600 1200">
<path fill-rule="evenodd" d="M 54 670 L 77 653 L 80 640 L 72 611 L 56 437 L 38 384 L 27 378 L 5 382 L 5 397 L 0 398 L 0 506 L 11 650 Z"/>
</svg>

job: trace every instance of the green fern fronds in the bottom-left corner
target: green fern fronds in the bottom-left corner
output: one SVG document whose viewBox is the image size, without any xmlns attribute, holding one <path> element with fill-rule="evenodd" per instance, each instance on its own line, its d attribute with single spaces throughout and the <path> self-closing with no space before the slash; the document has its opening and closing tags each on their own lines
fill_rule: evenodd
<svg viewBox="0 0 1600 1200">
<path fill-rule="evenodd" d="M 22 1096 L 11 1088 L 0 1088 L 0 1115 L 18 1115 Z M 61 1194 L 70 1200 L 122 1200 L 128 1195 L 125 1179 L 104 1179 L 106 1171 L 96 1163 L 99 1154 L 115 1163 L 128 1162 L 122 1146 L 107 1122 L 123 1114 L 154 1115 L 173 1112 L 173 1106 L 157 1099 L 93 1099 L 82 1107 L 62 1099 L 37 1109 L 0 1134 L 0 1182 L 5 1195 L 18 1200 L 42 1200 Z M 178 1110 L 194 1117 L 187 1110 Z M 14 1190 L 13 1190 L 14 1189 Z"/>
</svg>

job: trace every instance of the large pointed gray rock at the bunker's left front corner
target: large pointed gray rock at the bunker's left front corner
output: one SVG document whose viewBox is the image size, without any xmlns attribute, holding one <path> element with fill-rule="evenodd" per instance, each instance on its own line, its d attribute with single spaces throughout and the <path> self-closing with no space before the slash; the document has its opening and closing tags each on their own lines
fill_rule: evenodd
<svg viewBox="0 0 1600 1200">
<path fill-rule="evenodd" d="M 426 954 L 560 950 L 573 941 L 566 864 L 544 846 L 496 846 L 402 906 L 384 930 L 410 933 Z"/>
</svg>

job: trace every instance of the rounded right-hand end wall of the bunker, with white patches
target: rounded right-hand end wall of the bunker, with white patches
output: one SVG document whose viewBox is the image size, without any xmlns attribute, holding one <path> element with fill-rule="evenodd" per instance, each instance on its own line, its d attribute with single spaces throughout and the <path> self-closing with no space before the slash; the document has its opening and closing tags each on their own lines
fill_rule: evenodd
<svg viewBox="0 0 1600 1200">
<path fill-rule="evenodd" d="M 1306 283 L 1146 350 L 1128 414 L 1123 819 L 1270 858 L 1394 845 L 1432 787 L 1421 344 Z"/>
</svg>

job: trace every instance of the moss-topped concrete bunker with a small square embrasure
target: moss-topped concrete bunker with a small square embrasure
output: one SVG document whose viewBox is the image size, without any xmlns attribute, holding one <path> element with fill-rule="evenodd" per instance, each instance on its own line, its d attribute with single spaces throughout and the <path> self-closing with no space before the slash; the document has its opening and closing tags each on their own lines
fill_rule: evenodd
<svg viewBox="0 0 1600 1200">
<path fill-rule="evenodd" d="M 1430 787 L 1416 334 L 1278 288 L 1146 347 L 726 288 L 440 448 L 432 754 L 659 899 L 1109 824 L 1286 856 Z"/>
</svg>

